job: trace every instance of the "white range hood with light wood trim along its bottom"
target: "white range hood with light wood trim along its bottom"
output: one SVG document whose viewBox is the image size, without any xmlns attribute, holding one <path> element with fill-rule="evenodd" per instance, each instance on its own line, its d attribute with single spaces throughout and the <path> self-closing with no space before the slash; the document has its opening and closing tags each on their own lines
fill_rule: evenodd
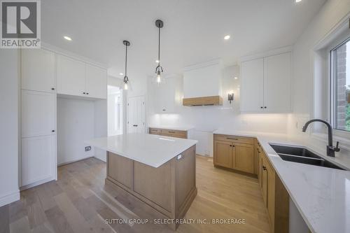
<svg viewBox="0 0 350 233">
<path fill-rule="evenodd" d="M 221 72 L 218 59 L 186 67 L 183 71 L 183 106 L 223 105 Z"/>
</svg>

